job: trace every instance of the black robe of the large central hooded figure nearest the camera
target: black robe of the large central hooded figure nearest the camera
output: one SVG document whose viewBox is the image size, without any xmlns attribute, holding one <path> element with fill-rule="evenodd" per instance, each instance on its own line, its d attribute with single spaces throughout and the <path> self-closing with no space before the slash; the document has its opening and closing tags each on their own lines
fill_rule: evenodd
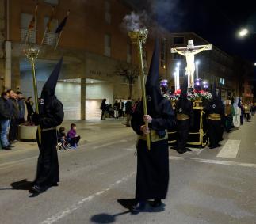
<svg viewBox="0 0 256 224">
<path fill-rule="evenodd" d="M 150 108 L 150 107 L 148 107 Z M 159 103 L 159 115 L 153 118 L 150 128 L 162 132 L 174 125 L 174 112 L 169 101 L 163 99 Z M 137 135 L 143 135 L 140 127 L 143 122 L 143 106 L 140 102 L 132 114 L 132 128 Z M 166 134 L 167 135 L 167 134 Z M 151 150 L 147 142 L 139 139 L 137 142 L 137 178 L 136 199 L 165 199 L 169 184 L 169 151 L 168 139 L 151 142 Z"/>
</svg>

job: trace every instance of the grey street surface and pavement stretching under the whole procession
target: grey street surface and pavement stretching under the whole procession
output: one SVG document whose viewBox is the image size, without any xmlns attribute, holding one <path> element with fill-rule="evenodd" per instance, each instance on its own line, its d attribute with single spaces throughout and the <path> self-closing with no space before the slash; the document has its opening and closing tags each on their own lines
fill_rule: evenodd
<svg viewBox="0 0 256 224">
<path fill-rule="evenodd" d="M 126 208 L 136 184 L 132 130 L 113 120 L 79 123 L 79 128 L 86 135 L 83 145 L 59 151 L 59 187 L 39 196 L 11 187 L 33 180 L 36 145 L 17 143 L 13 152 L 0 152 L 1 224 L 256 223 L 256 117 L 225 135 L 218 149 L 193 149 L 181 156 L 170 150 L 165 206 L 148 206 L 139 215 Z"/>
</svg>

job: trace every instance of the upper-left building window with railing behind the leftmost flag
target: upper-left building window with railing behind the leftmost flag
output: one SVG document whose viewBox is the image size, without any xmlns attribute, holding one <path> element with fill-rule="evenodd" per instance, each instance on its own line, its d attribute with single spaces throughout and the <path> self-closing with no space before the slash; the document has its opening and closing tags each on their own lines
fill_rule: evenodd
<svg viewBox="0 0 256 224">
<path fill-rule="evenodd" d="M 31 20 L 32 14 L 21 13 L 21 41 L 25 41 L 26 38 L 28 38 L 29 43 L 36 44 L 36 23 L 35 27 L 30 32 L 28 32 L 29 23 Z"/>
</svg>

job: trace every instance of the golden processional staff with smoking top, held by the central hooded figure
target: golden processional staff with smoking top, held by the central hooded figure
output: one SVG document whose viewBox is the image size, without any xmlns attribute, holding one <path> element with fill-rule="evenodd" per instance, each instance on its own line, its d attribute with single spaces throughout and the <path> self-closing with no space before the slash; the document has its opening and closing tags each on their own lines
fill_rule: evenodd
<svg viewBox="0 0 256 224">
<path fill-rule="evenodd" d="M 146 43 L 147 40 L 147 28 L 141 29 L 138 31 L 130 31 L 128 32 L 128 36 L 130 36 L 132 40 L 132 44 L 136 44 L 138 47 L 138 55 L 139 55 L 139 71 L 140 71 L 140 82 L 141 82 L 141 90 L 142 90 L 142 100 L 143 100 L 143 112 L 144 115 L 147 115 L 147 97 L 146 97 L 146 87 L 145 87 L 145 75 L 144 75 L 144 66 L 143 66 L 143 47 L 142 44 Z M 145 123 L 148 128 L 148 122 Z M 146 135 L 147 138 L 147 149 L 151 149 L 151 137 L 150 134 Z"/>
</svg>

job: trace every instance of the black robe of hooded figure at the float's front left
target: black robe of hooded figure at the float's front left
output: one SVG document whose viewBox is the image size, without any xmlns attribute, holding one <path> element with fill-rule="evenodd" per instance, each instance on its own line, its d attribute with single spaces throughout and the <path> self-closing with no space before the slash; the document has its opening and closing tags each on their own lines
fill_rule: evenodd
<svg viewBox="0 0 256 224">
<path fill-rule="evenodd" d="M 176 104 L 176 113 L 189 116 L 189 119 L 187 120 L 177 120 L 177 151 L 179 153 L 184 153 L 186 151 L 185 146 L 189 137 L 189 127 L 193 126 L 193 104 L 187 99 L 182 100 L 182 102 L 178 101 Z"/>
</svg>

